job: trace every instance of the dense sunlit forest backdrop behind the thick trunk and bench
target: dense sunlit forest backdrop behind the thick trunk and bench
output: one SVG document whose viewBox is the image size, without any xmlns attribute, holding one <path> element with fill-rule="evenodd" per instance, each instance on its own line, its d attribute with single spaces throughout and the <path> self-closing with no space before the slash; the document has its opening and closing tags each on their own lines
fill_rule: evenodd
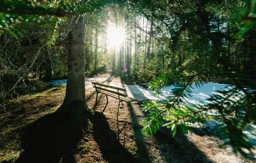
<svg viewBox="0 0 256 163">
<path fill-rule="evenodd" d="M 12 15 L 22 12 L 15 9 L 22 1 L 5 3 L 1 8 L 10 14 L 1 13 L 1 97 L 15 96 L 22 87 L 40 86 L 40 81 L 66 78 L 71 19 Z M 253 16 L 248 17 L 254 1 L 138 3 L 141 5 L 110 5 L 83 15 L 85 74 L 125 74 L 148 82 L 163 73 L 167 65 L 177 73 L 188 73 L 187 68 L 198 63 L 212 65 L 222 56 L 230 68 L 255 79 L 256 37 Z M 63 4 L 31 1 L 30 5 L 61 8 Z M 141 6 L 149 7 L 142 10 Z M 26 14 L 28 9 L 24 10 Z M 37 14 L 36 10 L 30 12 Z M 123 35 L 118 43 L 113 42 L 115 34 L 111 35 L 115 29 Z M 216 67 L 212 66 L 205 78 L 232 83 Z"/>
</svg>

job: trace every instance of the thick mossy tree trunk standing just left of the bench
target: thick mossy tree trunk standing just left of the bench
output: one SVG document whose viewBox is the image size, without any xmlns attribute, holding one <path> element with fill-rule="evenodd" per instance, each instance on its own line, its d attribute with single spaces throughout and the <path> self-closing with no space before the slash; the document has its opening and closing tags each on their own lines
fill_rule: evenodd
<svg viewBox="0 0 256 163">
<path fill-rule="evenodd" d="M 64 99 L 64 103 L 68 105 L 74 102 L 85 103 L 83 20 L 83 17 L 73 18 L 74 29 L 69 33 L 68 76 Z"/>
</svg>

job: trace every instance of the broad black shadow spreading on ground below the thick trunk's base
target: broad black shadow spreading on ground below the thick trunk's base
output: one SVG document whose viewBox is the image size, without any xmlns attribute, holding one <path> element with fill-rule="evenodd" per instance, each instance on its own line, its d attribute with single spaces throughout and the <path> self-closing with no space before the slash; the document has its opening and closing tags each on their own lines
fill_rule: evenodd
<svg viewBox="0 0 256 163">
<path fill-rule="evenodd" d="M 87 129 L 84 104 L 61 105 L 54 113 L 38 118 L 22 131 L 24 152 L 16 163 L 74 163 L 76 145 Z"/>
</svg>

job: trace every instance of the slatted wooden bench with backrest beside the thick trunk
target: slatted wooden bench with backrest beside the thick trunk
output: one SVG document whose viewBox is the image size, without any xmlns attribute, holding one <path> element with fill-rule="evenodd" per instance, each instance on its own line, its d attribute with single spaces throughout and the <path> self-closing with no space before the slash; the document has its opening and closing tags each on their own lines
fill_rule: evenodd
<svg viewBox="0 0 256 163">
<path fill-rule="evenodd" d="M 103 94 L 106 95 L 107 103 L 105 105 L 105 108 L 102 110 L 102 113 L 105 111 L 105 109 L 106 109 L 106 107 L 108 105 L 108 96 L 113 97 L 113 98 L 117 98 L 119 100 L 117 118 L 118 118 L 118 113 L 119 113 L 119 108 L 120 108 L 120 102 L 123 105 L 123 101 L 125 101 L 125 102 L 136 101 L 135 98 L 128 97 L 125 94 L 125 92 L 126 92 L 125 88 L 115 87 L 115 86 L 112 86 L 112 85 L 105 85 L 105 84 L 102 84 L 102 83 L 95 83 L 95 82 L 92 82 L 92 84 L 93 84 L 93 88 L 95 88 L 96 93 L 97 93 L 96 101 L 95 101 L 95 106 L 97 105 L 98 94 L 99 93 L 103 93 Z M 108 88 L 111 88 L 113 90 L 110 90 Z M 95 106 L 94 106 L 94 108 L 95 108 Z"/>
</svg>

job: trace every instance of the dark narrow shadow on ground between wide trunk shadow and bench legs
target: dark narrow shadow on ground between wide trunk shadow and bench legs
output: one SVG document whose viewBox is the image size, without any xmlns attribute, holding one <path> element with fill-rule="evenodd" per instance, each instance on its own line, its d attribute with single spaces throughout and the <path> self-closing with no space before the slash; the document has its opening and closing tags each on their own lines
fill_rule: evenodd
<svg viewBox="0 0 256 163">
<path fill-rule="evenodd" d="M 129 153 L 116 138 L 116 133 L 110 129 L 103 113 L 94 112 L 92 116 L 94 140 L 99 145 L 102 158 L 108 163 L 136 163 L 138 160 Z"/>
</svg>

